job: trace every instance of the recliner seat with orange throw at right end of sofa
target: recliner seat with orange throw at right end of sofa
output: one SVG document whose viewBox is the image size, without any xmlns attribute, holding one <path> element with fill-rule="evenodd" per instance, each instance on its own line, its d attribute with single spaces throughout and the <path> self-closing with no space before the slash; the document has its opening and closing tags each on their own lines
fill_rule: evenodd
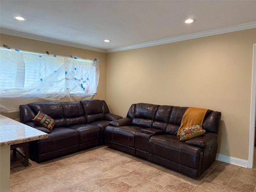
<svg viewBox="0 0 256 192">
<path fill-rule="evenodd" d="M 186 110 L 187 107 L 173 107 L 166 134 L 150 138 L 149 160 L 197 178 L 216 158 L 220 112 L 207 110 L 203 136 L 180 141 L 176 134 Z"/>
</svg>

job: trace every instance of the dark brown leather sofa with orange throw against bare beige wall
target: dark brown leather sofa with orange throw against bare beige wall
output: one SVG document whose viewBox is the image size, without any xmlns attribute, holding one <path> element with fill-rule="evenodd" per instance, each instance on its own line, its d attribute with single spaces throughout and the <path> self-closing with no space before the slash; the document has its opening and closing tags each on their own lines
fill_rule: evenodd
<svg viewBox="0 0 256 192">
<path fill-rule="evenodd" d="M 126 118 L 106 127 L 106 145 L 197 178 L 215 161 L 221 113 L 207 110 L 206 132 L 180 141 L 176 135 L 187 108 L 132 104 Z"/>
</svg>

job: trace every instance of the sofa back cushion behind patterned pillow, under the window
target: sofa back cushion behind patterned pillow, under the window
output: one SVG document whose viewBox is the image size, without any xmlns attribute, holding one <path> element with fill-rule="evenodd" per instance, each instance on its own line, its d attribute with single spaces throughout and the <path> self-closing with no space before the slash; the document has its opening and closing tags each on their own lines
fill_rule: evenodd
<svg viewBox="0 0 256 192">
<path fill-rule="evenodd" d="M 31 108 L 35 116 L 38 111 L 41 111 L 53 118 L 55 121 L 54 128 L 67 126 L 66 120 L 64 118 L 64 110 L 60 102 L 36 102 L 27 104 L 27 106 Z"/>
</svg>

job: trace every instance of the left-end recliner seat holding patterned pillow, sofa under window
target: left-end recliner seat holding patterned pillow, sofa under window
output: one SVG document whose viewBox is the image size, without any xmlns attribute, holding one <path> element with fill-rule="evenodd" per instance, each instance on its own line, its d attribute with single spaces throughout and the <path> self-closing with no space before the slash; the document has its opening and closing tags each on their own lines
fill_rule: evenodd
<svg viewBox="0 0 256 192">
<path fill-rule="evenodd" d="M 52 132 L 32 122 L 41 111 L 55 121 Z M 50 133 L 48 138 L 29 142 L 29 156 L 41 162 L 79 150 L 80 134 L 67 128 L 64 110 L 60 102 L 36 102 L 20 106 L 20 122 L 38 130 Z"/>
</svg>

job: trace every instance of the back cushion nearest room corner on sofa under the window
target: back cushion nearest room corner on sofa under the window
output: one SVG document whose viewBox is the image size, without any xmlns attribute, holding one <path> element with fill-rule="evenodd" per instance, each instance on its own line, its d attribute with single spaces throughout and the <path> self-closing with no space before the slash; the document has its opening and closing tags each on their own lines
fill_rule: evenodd
<svg viewBox="0 0 256 192">
<path fill-rule="evenodd" d="M 105 120 L 104 114 L 109 113 L 108 106 L 104 100 L 82 100 L 84 115 L 87 123 Z"/>
</svg>

